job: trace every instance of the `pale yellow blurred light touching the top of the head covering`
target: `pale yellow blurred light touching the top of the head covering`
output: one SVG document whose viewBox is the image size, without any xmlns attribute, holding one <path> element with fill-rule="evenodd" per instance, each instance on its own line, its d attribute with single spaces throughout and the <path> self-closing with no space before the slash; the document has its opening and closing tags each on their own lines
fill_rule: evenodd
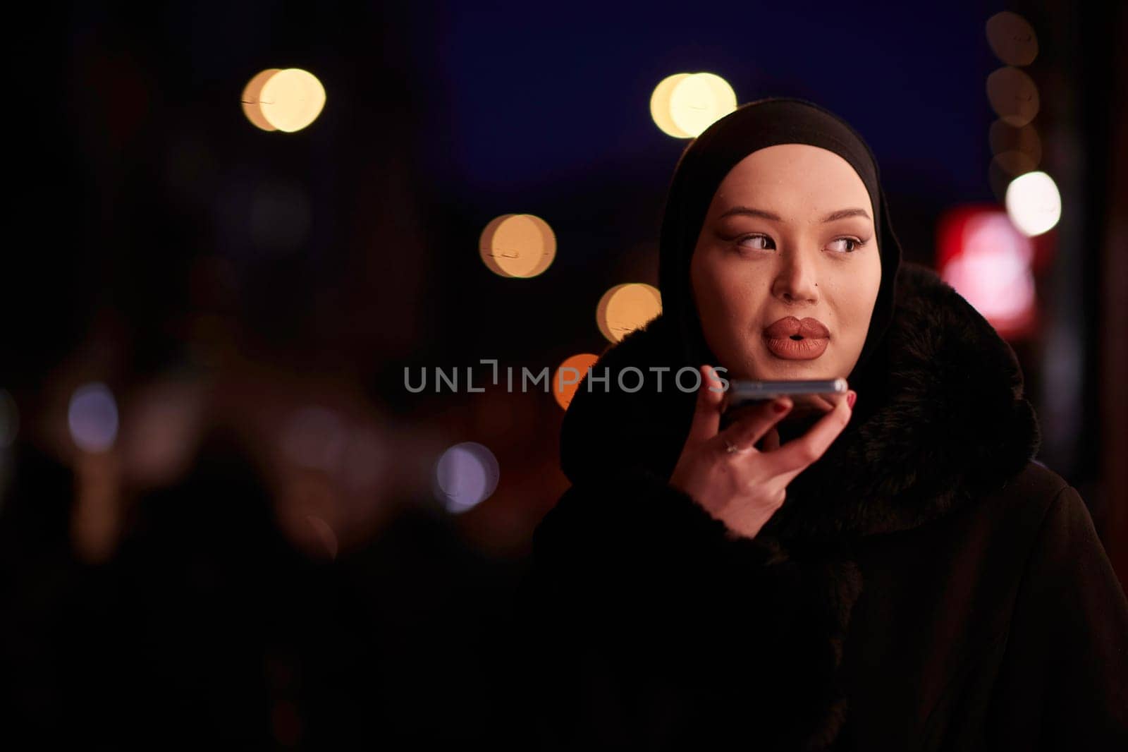
<svg viewBox="0 0 1128 752">
<path fill-rule="evenodd" d="M 716 73 L 675 73 L 659 81 L 650 114 L 663 133 L 696 138 L 737 108 L 737 94 Z"/>
</svg>

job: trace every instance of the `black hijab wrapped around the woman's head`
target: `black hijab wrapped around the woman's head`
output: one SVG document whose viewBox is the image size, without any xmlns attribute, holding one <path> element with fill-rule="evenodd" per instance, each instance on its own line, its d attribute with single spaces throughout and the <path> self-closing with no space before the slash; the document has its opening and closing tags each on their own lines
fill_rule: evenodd
<svg viewBox="0 0 1128 752">
<path fill-rule="evenodd" d="M 901 246 L 889 222 L 889 208 L 870 147 L 846 121 L 830 111 L 796 97 L 767 97 L 743 104 L 689 142 L 678 160 L 667 194 L 659 259 L 662 314 L 673 325 L 687 365 L 716 364 L 702 331 L 689 278 L 689 259 L 697 245 L 705 215 L 721 181 L 741 159 L 778 143 L 808 143 L 834 151 L 862 178 L 873 206 L 873 225 L 881 256 L 881 286 L 870 320 L 865 344 L 847 381 L 857 381 L 863 367 L 881 348 L 893 313 Z"/>
</svg>

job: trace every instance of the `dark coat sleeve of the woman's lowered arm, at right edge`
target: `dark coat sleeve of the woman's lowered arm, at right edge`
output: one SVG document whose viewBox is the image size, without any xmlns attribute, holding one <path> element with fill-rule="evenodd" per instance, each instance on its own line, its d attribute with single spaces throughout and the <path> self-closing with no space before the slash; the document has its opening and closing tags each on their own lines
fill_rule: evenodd
<svg viewBox="0 0 1128 752">
<path fill-rule="evenodd" d="M 988 732 L 998 749 L 1128 750 L 1128 600 L 1072 487 L 1030 553 Z"/>
</svg>

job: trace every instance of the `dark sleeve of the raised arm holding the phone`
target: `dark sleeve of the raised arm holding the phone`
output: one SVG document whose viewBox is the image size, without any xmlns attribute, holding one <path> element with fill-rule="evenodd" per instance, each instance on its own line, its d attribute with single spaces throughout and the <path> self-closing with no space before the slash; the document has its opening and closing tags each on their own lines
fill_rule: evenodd
<svg viewBox="0 0 1128 752">
<path fill-rule="evenodd" d="M 794 554 L 645 469 L 573 486 L 522 587 L 540 749 L 829 736 L 846 617 L 827 606 L 835 562 Z"/>
</svg>

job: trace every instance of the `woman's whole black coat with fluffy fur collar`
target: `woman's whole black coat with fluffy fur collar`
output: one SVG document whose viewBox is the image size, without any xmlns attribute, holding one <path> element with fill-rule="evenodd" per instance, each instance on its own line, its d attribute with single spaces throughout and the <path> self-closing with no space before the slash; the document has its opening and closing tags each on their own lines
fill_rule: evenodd
<svg viewBox="0 0 1128 752">
<path fill-rule="evenodd" d="M 565 417 L 572 488 L 521 600 L 530 746 L 1128 749 L 1128 602 L 962 297 L 902 265 L 881 376 L 755 539 L 667 482 L 695 395 L 616 386 L 686 365 L 667 329 L 605 352 L 609 391 Z"/>
</svg>

